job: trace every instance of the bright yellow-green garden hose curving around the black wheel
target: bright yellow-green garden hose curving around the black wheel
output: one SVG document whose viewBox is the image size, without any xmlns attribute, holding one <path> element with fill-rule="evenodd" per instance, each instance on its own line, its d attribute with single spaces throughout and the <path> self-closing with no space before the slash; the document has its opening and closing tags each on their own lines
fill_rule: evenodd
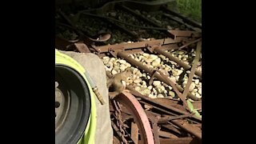
<svg viewBox="0 0 256 144">
<path fill-rule="evenodd" d="M 79 139 L 77 144 L 94 144 L 95 131 L 96 131 L 96 122 L 97 122 L 97 113 L 96 113 L 96 103 L 94 100 L 95 94 L 90 86 L 90 82 L 86 78 L 85 69 L 76 62 L 73 58 L 66 54 L 60 53 L 58 50 L 55 50 L 55 65 L 69 66 L 76 70 L 84 78 L 89 90 L 90 90 L 90 100 L 91 100 L 91 109 L 90 109 L 90 118 L 86 125 L 86 130 L 82 138 Z"/>
</svg>

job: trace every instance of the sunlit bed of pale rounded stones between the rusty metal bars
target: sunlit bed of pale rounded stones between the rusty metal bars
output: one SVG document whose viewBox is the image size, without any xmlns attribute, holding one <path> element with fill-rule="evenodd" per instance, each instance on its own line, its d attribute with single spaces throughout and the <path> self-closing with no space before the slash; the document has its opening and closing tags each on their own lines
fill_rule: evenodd
<svg viewBox="0 0 256 144">
<path fill-rule="evenodd" d="M 128 42 L 129 43 L 129 42 Z M 190 52 L 185 52 L 183 50 L 169 50 L 170 54 L 179 60 L 182 60 L 186 64 L 190 64 L 189 59 L 194 59 L 195 50 L 192 49 Z M 170 61 L 169 58 L 166 58 L 162 54 L 130 54 L 130 58 L 138 62 L 142 62 L 143 65 L 148 66 L 154 70 L 160 70 L 163 74 L 166 74 L 170 80 L 183 88 L 186 87 L 188 81 L 188 76 L 190 70 L 184 71 L 183 67 L 178 66 L 176 62 Z M 178 96 L 174 93 L 174 90 L 171 86 L 166 85 L 164 82 L 154 80 L 153 84 L 149 86 L 145 80 L 150 80 L 150 75 L 142 73 L 137 68 L 130 65 L 129 62 L 121 58 L 110 58 L 103 57 L 102 62 L 105 65 L 106 71 L 111 74 L 118 74 L 127 68 L 133 70 L 132 78 L 126 78 L 126 85 L 134 86 L 135 90 L 140 92 L 143 95 L 147 95 L 149 98 L 177 98 Z M 202 71 L 201 60 L 198 62 L 197 70 Z M 202 82 L 197 75 L 194 75 L 192 83 L 190 85 L 190 93 L 193 94 L 196 98 L 202 98 Z M 190 99 L 191 102 L 194 102 L 193 99 Z"/>
</svg>

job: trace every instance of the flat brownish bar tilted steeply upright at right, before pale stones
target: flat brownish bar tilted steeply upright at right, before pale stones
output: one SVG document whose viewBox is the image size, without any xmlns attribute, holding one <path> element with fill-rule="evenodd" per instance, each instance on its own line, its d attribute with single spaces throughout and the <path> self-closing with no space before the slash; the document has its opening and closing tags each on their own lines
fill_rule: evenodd
<svg viewBox="0 0 256 144">
<path fill-rule="evenodd" d="M 183 91 L 183 94 L 182 94 L 183 98 L 186 98 L 186 95 L 189 93 L 190 85 L 191 85 L 192 79 L 194 77 L 195 68 L 198 64 L 201 50 L 202 50 L 202 41 L 199 41 L 198 46 L 197 46 L 197 50 L 196 50 L 196 55 L 195 55 L 195 58 L 194 58 L 194 62 L 193 62 L 192 68 L 190 70 L 189 79 L 186 83 L 185 90 Z"/>
</svg>

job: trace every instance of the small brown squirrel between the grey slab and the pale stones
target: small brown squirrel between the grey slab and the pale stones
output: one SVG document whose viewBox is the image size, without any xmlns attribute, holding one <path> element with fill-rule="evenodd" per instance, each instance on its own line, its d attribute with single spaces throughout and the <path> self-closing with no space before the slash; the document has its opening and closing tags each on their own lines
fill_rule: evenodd
<svg viewBox="0 0 256 144">
<path fill-rule="evenodd" d="M 129 92 L 129 90 L 126 90 L 126 84 L 122 83 L 122 81 L 126 81 L 126 78 L 131 77 L 132 74 L 133 72 L 131 69 L 126 69 L 121 73 L 114 74 L 114 76 L 107 80 L 107 88 L 109 89 L 110 99 L 115 98 L 123 91 Z"/>
</svg>

